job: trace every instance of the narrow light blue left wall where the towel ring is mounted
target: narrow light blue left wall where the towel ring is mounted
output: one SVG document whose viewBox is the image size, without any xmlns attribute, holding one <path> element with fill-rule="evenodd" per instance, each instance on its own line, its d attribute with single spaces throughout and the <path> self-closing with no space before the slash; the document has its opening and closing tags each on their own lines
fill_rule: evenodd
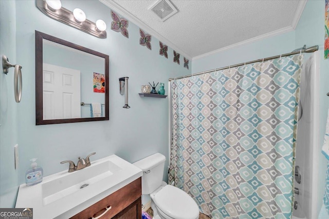
<svg viewBox="0 0 329 219">
<path fill-rule="evenodd" d="M 16 64 L 15 2 L 0 1 L 0 55 Z M 2 59 L 1 59 L 2 60 Z M 17 141 L 17 106 L 14 98 L 14 69 L 0 72 L 0 208 L 15 205 L 18 170 L 14 167 L 14 146 Z"/>
</svg>

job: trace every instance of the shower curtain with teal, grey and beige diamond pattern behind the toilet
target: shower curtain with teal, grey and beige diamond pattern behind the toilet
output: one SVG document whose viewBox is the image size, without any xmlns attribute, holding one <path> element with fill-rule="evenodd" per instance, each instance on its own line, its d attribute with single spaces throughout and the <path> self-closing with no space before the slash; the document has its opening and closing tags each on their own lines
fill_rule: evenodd
<svg viewBox="0 0 329 219">
<path fill-rule="evenodd" d="M 169 183 L 212 218 L 291 218 L 303 55 L 172 82 Z"/>
</svg>

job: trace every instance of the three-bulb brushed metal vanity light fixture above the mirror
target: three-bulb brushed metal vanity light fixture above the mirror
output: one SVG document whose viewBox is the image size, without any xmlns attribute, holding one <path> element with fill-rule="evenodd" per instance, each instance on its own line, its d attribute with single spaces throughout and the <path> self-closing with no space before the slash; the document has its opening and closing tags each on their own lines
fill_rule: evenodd
<svg viewBox="0 0 329 219">
<path fill-rule="evenodd" d="M 85 13 L 76 8 L 73 12 L 62 7 L 60 0 L 35 0 L 36 7 L 47 16 L 71 27 L 89 33 L 98 38 L 106 38 L 106 24 L 98 20 L 99 25 L 86 19 Z"/>
</svg>

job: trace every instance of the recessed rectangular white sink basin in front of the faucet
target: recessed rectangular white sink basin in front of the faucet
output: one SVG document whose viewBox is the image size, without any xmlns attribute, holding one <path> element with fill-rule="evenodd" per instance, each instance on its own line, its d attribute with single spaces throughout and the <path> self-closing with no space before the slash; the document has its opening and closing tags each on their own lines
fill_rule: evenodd
<svg viewBox="0 0 329 219">
<path fill-rule="evenodd" d="M 57 201 L 87 186 L 93 187 L 95 183 L 110 177 L 122 170 L 111 161 L 96 162 L 93 165 L 70 174 L 63 174 L 42 184 L 42 196 L 45 205 Z"/>
</svg>

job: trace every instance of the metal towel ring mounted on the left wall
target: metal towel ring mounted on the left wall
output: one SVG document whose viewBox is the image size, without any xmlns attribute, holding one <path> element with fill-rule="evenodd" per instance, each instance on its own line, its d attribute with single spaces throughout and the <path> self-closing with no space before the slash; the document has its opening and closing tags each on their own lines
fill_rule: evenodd
<svg viewBox="0 0 329 219">
<path fill-rule="evenodd" d="M 21 102 L 22 97 L 22 66 L 16 64 L 12 65 L 9 63 L 6 55 L 2 56 L 2 67 L 5 74 L 8 74 L 8 69 L 14 67 L 14 92 L 15 92 L 15 101 L 16 103 Z"/>
</svg>

